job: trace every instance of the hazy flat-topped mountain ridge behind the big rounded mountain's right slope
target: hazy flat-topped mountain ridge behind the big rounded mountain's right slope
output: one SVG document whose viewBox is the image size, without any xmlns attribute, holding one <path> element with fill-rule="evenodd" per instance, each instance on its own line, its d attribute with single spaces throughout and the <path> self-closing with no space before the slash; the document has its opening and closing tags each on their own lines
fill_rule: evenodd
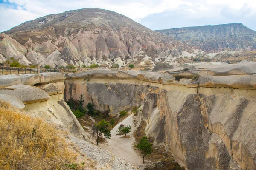
<svg viewBox="0 0 256 170">
<path fill-rule="evenodd" d="M 169 35 L 205 52 L 219 52 L 225 48 L 236 51 L 256 50 L 256 31 L 242 23 L 172 28 L 156 32 Z"/>
</svg>

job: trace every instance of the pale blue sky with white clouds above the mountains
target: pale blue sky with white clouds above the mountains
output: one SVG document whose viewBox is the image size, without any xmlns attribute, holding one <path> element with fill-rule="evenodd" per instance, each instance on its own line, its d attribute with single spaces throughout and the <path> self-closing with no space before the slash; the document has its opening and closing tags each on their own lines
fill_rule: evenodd
<svg viewBox="0 0 256 170">
<path fill-rule="evenodd" d="M 0 32 L 80 8 L 123 14 L 152 30 L 243 23 L 256 30 L 256 0 L 0 0 Z"/>
</svg>

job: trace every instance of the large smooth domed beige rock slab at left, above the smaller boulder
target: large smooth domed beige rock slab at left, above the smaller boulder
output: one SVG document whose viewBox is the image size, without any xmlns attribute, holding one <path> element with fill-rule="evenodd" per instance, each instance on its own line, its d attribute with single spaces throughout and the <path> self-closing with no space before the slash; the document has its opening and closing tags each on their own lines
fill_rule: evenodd
<svg viewBox="0 0 256 170">
<path fill-rule="evenodd" d="M 20 88 L 18 86 L 15 86 L 14 90 L 8 89 L 12 89 L 13 87 L 14 86 L 9 86 L 7 87 L 7 90 L 0 90 L 0 94 L 15 96 L 20 99 L 24 104 L 42 102 L 50 99 L 50 96 L 49 94 L 47 94 L 47 92 L 34 86 L 20 86 Z"/>
</svg>

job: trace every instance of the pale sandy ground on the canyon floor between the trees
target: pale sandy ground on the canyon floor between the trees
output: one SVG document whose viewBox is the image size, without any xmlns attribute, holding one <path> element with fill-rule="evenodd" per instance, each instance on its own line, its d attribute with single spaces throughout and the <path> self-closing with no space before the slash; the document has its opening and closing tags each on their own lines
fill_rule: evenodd
<svg viewBox="0 0 256 170">
<path fill-rule="evenodd" d="M 116 135 L 116 131 L 118 130 L 118 127 L 120 127 L 120 124 L 123 125 L 131 125 L 131 132 L 127 135 L 130 136 L 130 138 L 122 138 L 122 135 Z M 134 164 L 139 165 L 142 164 L 142 157 L 138 155 L 134 147 L 134 141 L 135 138 L 133 136 L 133 132 L 135 130 L 135 124 L 133 123 L 133 114 L 128 116 L 126 119 L 124 119 L 122 122 L 117 124 L 113 130 L 111 130 L 111 139 L 107 139 L 107 144 L 102 145 L 101 147 L 110 151 L 111 153 L 116 154 L 120 158 L 124 159 L 125 161 Z"/>
</svg>

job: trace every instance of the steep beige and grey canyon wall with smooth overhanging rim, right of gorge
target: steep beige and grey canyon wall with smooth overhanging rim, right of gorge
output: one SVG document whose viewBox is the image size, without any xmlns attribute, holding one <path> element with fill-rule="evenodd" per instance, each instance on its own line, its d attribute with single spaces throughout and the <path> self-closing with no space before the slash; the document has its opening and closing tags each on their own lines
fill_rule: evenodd
<svg viewBox="0 0 256 170">
<path fill-rule="evenodd" d="M 147 136 L 189 170 L 254 170 L 255 78 L 176 81 L 169 74 L 97 69 L 67 74 L 64 99 L 84 94 L 84 105 L 93 102 L 111 116 L 141 105 Z"/>
</svg>

